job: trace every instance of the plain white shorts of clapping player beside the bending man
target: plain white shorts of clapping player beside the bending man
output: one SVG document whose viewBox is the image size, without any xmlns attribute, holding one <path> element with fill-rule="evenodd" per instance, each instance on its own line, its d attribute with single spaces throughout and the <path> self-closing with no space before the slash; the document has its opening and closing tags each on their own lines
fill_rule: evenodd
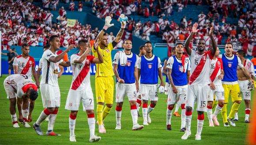
<svg viewBox="0 0 256 145">
<path fill-rule="evenodd" d="M 44 108 L 60 107 L 60 88 L 48 83 L 40 84 Z"/>
</svg>

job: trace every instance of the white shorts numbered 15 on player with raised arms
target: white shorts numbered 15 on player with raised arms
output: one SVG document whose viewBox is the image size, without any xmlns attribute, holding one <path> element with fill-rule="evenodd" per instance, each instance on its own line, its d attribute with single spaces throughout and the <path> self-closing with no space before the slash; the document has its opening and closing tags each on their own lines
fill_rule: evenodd
<svg viewBox="0 0 256 145">
<path fill-rule="evenodd" d="M 207 99 L 210 94 L 210 86 L 208 85 L 188 85 L 188 97 L 186 107 L 194 109 L 195 102 L 196 110 L 207 112 Z"/>
</svg>

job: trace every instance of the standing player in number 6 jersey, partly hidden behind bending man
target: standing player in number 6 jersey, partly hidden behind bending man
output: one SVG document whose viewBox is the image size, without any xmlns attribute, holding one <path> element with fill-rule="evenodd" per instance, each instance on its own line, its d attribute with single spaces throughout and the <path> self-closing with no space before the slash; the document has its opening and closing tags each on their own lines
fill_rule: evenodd
<svg viewBox="0 0 256 145">
<path fill-rule="evenodd" d="M 37 72 L 35 70 L 35 60 L 33 57 L 29 55 L 30 51 L 30 46 L 26 43 L 23 43 L 21 47 L 22 54 L 15 57 L 13 61 L 13 69 L 15 74 L 23 74 L 28 76 L 29 78 L 34 76 L 34 80 L 38 85 L 38 80 L 37 80 Z M 31 122 L 32 121 L 32 111 L 34 109 L 34 101 L 30 101 L 28 108 L 22 109 L 22 114 L 23 114 L 23 120 L 26 122 Z M 27 124 L 27 127 L 30 127 L 29 124 Z"/>
</svg>

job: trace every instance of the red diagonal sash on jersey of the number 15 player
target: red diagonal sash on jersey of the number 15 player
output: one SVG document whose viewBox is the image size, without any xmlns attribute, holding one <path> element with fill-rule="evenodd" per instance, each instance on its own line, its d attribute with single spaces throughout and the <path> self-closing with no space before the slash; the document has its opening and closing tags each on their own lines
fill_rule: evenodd
<svg viewBox="0 0 256 145">
<path fill-rule="evenodd" d="M 203 58 L 205 57 L 205 60 L 203 60 Z M 194 70 L 194 72 L 192 73 L 192 75 L 190 76 L 190 79 L 189 79 L 189 83 L 188 84 L 192 84 L 196 78 L 200 75 L 200 73 L 202 72 L 203 70 L 203 66 L 206 62 L 206 59 L 207 59 L 207 52 L 205 52 L 199 62 L 199 64 L 196 66 L 196 69 Z"/>
</svg>

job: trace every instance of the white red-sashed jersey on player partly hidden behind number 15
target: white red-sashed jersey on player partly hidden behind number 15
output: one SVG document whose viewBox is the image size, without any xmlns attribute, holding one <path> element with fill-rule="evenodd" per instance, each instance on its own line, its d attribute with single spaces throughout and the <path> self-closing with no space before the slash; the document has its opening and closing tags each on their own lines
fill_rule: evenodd
<svg viewBox="0 0 256 145">
<path fill-rule="evenodd" d="M 210 64 L 210 79 L 211 81 L 213 80 L 215 85 L 222 85 L 221 80 L 218 79 L 221 69 L 223 70 L 222 59 L 218 57 L 215 60 L 212 59 Z"/>
</svg>

